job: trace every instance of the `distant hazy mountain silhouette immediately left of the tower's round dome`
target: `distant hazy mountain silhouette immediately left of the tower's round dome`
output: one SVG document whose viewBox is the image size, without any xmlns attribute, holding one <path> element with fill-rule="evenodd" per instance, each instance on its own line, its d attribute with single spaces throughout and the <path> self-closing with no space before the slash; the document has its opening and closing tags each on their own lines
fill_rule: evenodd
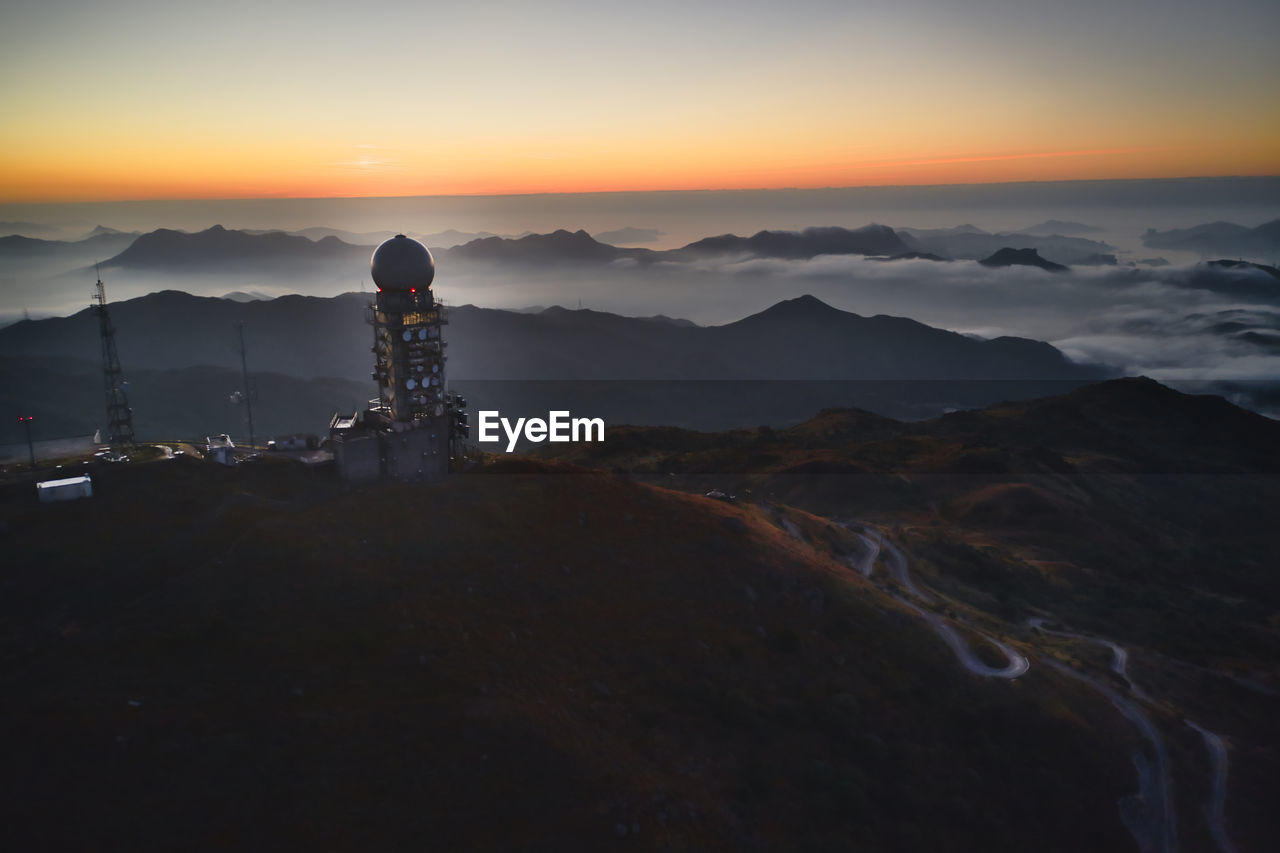
<svg viewBox="0 0 1280 853">
<path fill-rule="evenodd" d="M 161 228 L 142 234 L 102 265 L 141 270 L 216 270 L 241 265 L 355 261 L 367 256 L 367 246 L 352 246 L 332 236 L 312 241 L 282 231 L 252 234 L 214 225 L 196 233 Z"/>
</svg>

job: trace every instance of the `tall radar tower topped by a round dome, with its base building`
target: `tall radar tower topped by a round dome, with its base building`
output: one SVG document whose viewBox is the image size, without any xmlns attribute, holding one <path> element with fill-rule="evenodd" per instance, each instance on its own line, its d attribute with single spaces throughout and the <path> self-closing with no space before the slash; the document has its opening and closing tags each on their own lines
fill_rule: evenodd
<svg viewBox="0 0 1280 853">
<path fill-rule="evenodd" d="M 342 478 L 429 482 L 449 470 L 453 439 L 465 435 L 463 401 L 444 378 L 448 321 L 435 298 L 435 260 L 422 243 L 397 234 L 370 259 L 376 286 L 374 327 L 378 398 L 353 415 L 334 415 L 329 438 Z"/>
</svg>

